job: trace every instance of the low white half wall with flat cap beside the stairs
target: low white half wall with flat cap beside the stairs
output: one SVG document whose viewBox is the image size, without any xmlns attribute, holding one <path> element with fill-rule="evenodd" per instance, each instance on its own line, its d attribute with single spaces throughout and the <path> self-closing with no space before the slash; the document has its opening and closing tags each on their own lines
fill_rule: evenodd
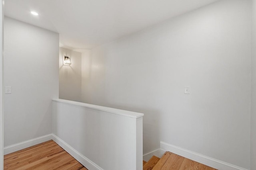
<svg viewBox="0 0 256 170">
<path fill-rule="evenodd" d="M 58 138 L 54 140 L 90 170 L 142 170 L 142 116 L 57 99 L 53 133 Z"/>
</svg>

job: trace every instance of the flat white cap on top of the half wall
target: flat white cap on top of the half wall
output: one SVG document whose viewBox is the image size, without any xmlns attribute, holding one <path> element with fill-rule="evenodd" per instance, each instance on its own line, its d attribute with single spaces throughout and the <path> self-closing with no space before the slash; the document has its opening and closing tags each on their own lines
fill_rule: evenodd
<svg viewBox="0 0 256 170">
<path fill-rule="evenodd" d="M 121 109 L 114 109 L 114 108 L 104 107 L 104 106 L 97 106 L 97 105 L 86 104 L 86 103 L 81 103 L 81 102 L 74 102 L 74 101 L 64 100 L 64 99 L 53 99 L 53 101 L 62 102 L 62 103 L 66 103 L 66 104 L 72 104 L 72 105 L 76 105 L 76 106 L 87 107 L 90 109 L 96 109 L 96 110 L 100 110 L 100 111 L 106 111 L 108 113 L 114 113 L 117 115 L 131 117 L 131 118 L 135 118 L 135 119 L 144 116 L 143 113 L 137 113 L 137 112 L 121 110 Z"/>
</svg>

